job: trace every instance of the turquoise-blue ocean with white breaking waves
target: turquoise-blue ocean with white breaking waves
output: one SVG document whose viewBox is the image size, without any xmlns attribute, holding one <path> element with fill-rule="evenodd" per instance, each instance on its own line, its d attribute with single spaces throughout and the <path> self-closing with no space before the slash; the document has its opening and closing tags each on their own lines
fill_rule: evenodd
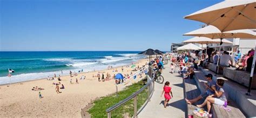
<svg viewBox="0 0 256 118">
<path fill-rule="evenodd" d="M 24 82 L 48 76 L 68 75 L 69 71 L 93 71 L 131 64 L 144 55 L 139 51 L 0 51 L 0 84 Z"/>
</svg>

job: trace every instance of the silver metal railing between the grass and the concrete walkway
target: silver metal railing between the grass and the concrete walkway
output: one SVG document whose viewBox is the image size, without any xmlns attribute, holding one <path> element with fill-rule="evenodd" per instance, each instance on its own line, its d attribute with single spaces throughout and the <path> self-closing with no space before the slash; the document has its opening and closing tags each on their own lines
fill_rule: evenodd
<svg viewBox="0 0 256 118">
<path fill-rule="evenodd" d="M 142 111 L 142 109 L 146 106 L 147 102 L 150 101 L 152 95 L 153 95 L 153 91 L 154 91 L 154 71 L 149 67 L 149 73 L 147 75 L 147 84 L 145 86 L 142 87 L 142 89 L 140 89 L 139 91 L 133 93 L 132 95 L 130 95 L 129 97 L 125 98 L 124 100 L 118 102 L 116 105 L 113 105 L 112 107 L 106 109 L 107 112 L 107 117 L 111 118 L 111 112 L 113 112 L 113 110 L 119 108 L 120 106 L 124 105 L 126 102 L 128 102 L 131 99 L 134 99 L 133 101 L 133 117 L 137 117 L 137 115 Z M 138 110 L 137 109 L 137 95 L 139 93 L 142 93 L 145 89 L 147 88 L 147 100 L 144 102 L 144 104 L 142 105 L 142 107 Z"/>
</svg>

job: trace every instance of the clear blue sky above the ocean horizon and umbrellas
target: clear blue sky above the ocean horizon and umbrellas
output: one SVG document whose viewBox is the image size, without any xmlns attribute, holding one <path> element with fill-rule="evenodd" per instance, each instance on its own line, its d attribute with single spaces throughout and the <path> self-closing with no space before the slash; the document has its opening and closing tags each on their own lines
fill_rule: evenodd
<svg viewBox="0 0 256 118">
<path fill-rule="evenodd" d="M 170 51 L 219 0 L 1 0 L 0 51 Z"/>
</svg>

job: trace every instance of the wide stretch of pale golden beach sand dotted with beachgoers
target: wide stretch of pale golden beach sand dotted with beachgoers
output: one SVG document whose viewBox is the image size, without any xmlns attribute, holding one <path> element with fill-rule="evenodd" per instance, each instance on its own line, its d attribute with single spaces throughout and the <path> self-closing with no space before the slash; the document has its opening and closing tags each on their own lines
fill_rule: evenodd
<svg viewBox="0 0 256 118">
<path fill-rule="evenodd" d="M 136 67 L 138 65 L 142 67 L 147 61 L 147 59 L 138 61 L 135 63 Z M 12 84 L 10 87 L 2 85 L 0 86 L 0 117 L 81 117 L 81 108 L 91 100 L 116 92 L 114 79 L 98 82 L 98 77 L 93 78 L 92 75 L 100 72 L 101 76 L 102 72 L 105 72 L 104 77 L 106 77 L 108 72 L 112 78 L 113 74 L 119 72 L 130 74 L 132 70 L 126 66 L 124 66 L 124 72 L 122 67 L 114 69 L 118 72 L 112 72 L 113 69 L 110 69 L 79 73 L 78 76 L 72 77 L 73 84 L 70 84 L 70 76 L 62 76 L 60 83 L 64 84 L 65 89 L 60 89 L 62 93 L 59 94 L 55 91 L 56 85 L 52 85 L 53 82 L 58 83 L 57 78 L 21 82 Z M 85 75 L 86 79 L 80 80 L 82 75 Z M 76 78 L 79 84 L 76 84 Z M 40 91 L 43 98 L 39 98 L 39 91 L 31 90 L 36 86 L 44 89 Z M 121 90 L 124 85 L 118 85 L 118 87 L 118 90 Z"/>
</svg>

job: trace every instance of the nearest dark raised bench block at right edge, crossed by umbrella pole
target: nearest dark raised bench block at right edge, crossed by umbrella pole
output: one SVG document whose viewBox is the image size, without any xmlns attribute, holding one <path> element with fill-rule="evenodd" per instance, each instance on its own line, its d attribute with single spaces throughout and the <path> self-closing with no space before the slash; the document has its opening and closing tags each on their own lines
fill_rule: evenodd
<svg viewBox="0 0 256 118">
<path fill-rule="evenodd" d="M 235 68 L 224 68 L 223 76 L 227 77 L 228 79 L 234 80 L 235 82 L 246 87 L 249 86 L 250 72 L 235 70 Z M 254 75 L 253 78 L 256 78 L 256 75 Z M 255 80 L 252 83 L 252 89 L 256 89 Z"/>
</svg>

